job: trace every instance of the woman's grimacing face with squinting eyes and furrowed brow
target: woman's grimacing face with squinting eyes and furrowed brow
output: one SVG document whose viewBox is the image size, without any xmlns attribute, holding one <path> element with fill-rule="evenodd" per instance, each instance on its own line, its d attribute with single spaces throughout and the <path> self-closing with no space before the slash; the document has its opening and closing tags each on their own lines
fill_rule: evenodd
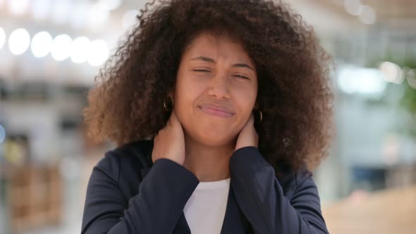
<svg viewBox="0 0 416 234">
<path fill-rule="evenodd" d="M 174 104 L 187 137 L 209 146 L 231 144 L 256 97 L 256 69 L 240 44 L 202 34 L 183 51 Z"/>
</svg>

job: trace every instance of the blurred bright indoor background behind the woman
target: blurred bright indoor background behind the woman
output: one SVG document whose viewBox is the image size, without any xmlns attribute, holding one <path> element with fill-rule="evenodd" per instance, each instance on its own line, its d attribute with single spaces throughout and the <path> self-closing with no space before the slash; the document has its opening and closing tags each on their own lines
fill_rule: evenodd
<svg viewBox="0 0 416 234">
<path fill-rule="evenodd" d="M 337 63 L 314 179 L 331 233 L 415 233 L 416 1 L 292 0 Z M 94 75 L 144 0 L 0 0 L 0 233 L 80 233 Z"/>
</svg>

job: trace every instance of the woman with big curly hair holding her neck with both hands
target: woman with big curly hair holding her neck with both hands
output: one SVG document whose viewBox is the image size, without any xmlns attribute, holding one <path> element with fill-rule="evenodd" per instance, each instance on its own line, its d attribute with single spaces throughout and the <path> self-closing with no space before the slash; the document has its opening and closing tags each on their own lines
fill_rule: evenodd
<svg viewBox="0 0 416 234">
<path fill-rule="evenodd" d="M 148 9 L 149 6 L 154 6 Z M 329 56 L 273 1 L 146 4 L 89 93 L 82 233 L 328 233 Z"/>
</svg>

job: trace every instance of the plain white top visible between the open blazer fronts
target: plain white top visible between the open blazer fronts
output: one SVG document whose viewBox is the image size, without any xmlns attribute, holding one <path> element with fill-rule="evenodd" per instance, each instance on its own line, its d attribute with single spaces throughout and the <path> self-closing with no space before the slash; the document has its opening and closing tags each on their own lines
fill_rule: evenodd
<svg viewBox="0 0 416 234">
<path fill-rule="evenodd" d="M 230 178 L 197 185 L 183 209 L 192 234 L 221 232 L 229 188 Z"/>
</svg>

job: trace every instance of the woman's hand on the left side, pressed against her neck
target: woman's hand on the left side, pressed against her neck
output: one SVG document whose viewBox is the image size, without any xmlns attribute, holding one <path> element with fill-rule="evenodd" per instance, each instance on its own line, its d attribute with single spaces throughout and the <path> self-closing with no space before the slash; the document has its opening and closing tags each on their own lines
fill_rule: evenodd
<svg viewBox="0 0 416 234">
<path fill-rule="evenodd" d="M 174 110 L 166 126 L 154 137 L 152 161 L 162 158 L 171 159 L 181 165 L 185 161 L 183 129 Z"/>
</svg>

